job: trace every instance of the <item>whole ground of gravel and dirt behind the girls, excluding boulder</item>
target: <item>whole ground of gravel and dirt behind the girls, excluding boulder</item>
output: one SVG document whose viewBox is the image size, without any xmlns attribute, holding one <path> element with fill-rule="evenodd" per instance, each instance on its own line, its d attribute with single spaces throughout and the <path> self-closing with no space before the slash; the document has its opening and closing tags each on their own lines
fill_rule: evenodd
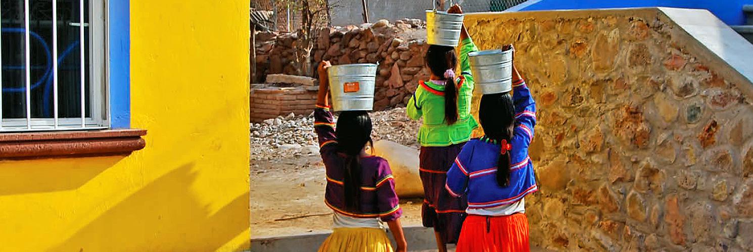
<svg viewBox="0 0 753 252">
<path fill-rule="evenodd" d="M 373 113 L 372 119 L 375 140 L 391 139 L 417 148 L 415 131 L 419 123 L 405 118 L 404 109 Z M 254 142 L 250 167 L 252 238 L 331 230 L 332 210 L 324 204 L 325 169 L 318 148 L 312 146 L 314 142 L 286 142 L 277 147 Z M 421 224 L 421 202 L 401 199 L 404 226 Z"/>
</svg>

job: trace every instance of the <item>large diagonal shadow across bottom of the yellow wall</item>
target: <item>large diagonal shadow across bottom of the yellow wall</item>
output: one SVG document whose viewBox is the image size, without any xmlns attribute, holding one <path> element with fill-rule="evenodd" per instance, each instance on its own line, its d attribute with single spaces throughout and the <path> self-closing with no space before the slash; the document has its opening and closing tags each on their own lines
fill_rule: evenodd
<svg viewBox="0 0 753 252">
<path fill-rule="evenodd" d="M 160 236 L 181 236 L 185 244 L 178 248 L 193 248 L 196 251 L 216 251 L 248 229 L 247 223 L 233 222 L 233 211 L 248 207 L 248 192 L 211 212 L 207 205 L 202 205 L 194 197 L 188 197 L 191 184 L 196 180 L 194 163 L 187 163 L 157 178 L 136 191 L 123 201 L 117 203 L 96 217 L 86 226 L 78 229 L 72 237 L 66 239 L 49 251 L 110 251 L 107 245 L 117 245 L 118 251 L 138 251 L 144 244 L 150 244 L 152 251 L 174 251 L 176 246 L 160 242 Z M 186 197 L 176 197 L 183 195 Z M 182 209 L 182 214 L 164 214 Z M 162 214 L 160 214 L 162 213 Z M 230 224 L 227 223 L 237 223 Z M 148 226 L 148 227 L 145 227 Z M 107 230 L 107 231 L 105 231 Z M 129 233 L 118 236 L 127 230 L 148 230 L 145 233 Z M 176 234 L 178 232 L 178 234 Z M 213 239 L 201 241 L 190 240 L 211 234 Z M 107 239 L 108 242 L 92 243 Z M 194 245 L 190 245 L 194 243 Z M 93 244 L 102 247 L 81 247 Z M 133 248 L 129 248 L 133 245 Z M 236 251 L 244 248 L 236 248 Z"/>
</svg>

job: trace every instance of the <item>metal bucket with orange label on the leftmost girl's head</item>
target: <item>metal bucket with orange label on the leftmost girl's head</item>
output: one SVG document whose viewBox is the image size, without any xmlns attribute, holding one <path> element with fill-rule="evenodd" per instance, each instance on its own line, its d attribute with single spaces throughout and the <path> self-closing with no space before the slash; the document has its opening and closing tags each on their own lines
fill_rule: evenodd
<svg viewBox="0 0 753 252">
<path fill-rule="evenodd" d="M 376 64 L 334 65 L 328 77 L 334 111 L 373 110 Z"/>
</svg>

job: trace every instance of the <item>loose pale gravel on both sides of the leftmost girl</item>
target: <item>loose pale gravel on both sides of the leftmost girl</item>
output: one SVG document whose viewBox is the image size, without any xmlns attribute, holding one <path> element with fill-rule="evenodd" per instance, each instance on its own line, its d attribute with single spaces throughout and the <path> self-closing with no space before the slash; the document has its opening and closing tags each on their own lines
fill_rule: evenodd
<svg viewBox="0 0 753 252">
<path fill-rule="evenodd" d="M 416 133 L 420 121 L 413 121 L 405 108 L 370 113 L 373 123 L 372 139 L 388 139 L 418 148 Z M 279 116 L 252 123 L 250 138 L 252 160 L 272 160 L 280 157 L 314 156 L 319 154 L 313 113 L 309 115 Z"/>
</svg>

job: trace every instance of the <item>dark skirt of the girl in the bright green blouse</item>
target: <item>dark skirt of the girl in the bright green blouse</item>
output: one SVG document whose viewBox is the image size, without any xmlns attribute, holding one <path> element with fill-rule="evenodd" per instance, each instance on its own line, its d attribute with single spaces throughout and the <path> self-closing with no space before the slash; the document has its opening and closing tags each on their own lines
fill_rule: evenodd
<svg viewBox="0 0 753 252">
<path fill-rule="evenodd" d="M 447 192 L 447 170 L 465 142 L 446 147 L 421 147 L 419 165 L 424 187 L 424 202 L 421 209 L 423 226 L 434 227 L 444 237 L 444 242 L 457 243 L 465 220 L 468 200 L 463 195 L 454 197 Z"/>
</svg>

